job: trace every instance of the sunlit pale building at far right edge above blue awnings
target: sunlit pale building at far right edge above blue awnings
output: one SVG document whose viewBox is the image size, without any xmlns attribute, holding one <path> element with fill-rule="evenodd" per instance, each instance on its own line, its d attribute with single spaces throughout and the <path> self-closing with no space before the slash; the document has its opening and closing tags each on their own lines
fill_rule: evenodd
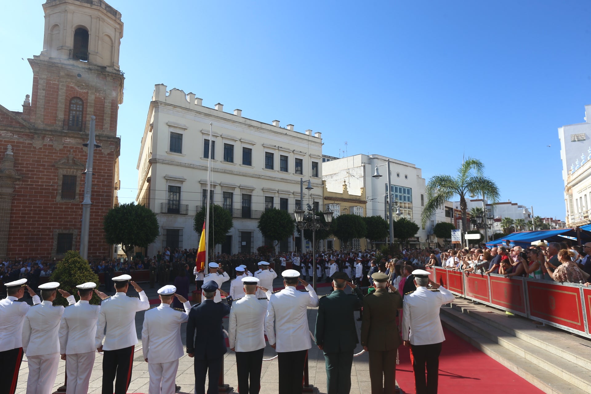
<svg viewBox="0 0 591 394">
<path fill-rule="evenodd" d="M 566 226 L 591 223 L 591 105 L 585 106 L 583 123 L 558 128 L 564 181 Z"/>
</svg>

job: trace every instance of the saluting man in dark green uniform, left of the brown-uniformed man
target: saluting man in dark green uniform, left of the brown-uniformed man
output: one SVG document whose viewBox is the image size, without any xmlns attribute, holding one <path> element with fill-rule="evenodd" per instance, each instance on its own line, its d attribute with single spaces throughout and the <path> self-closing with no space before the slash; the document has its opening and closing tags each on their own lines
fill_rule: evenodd
<svg viewBox="0 0 591 394">
<path fill-rule="evenodd" d="M 351 389 L 353 352 L 359 343 L 354 311 L 361 309 L 363 294 L 345 272 L 332 275 L 334 291 L 319 299 L 316 344 L 324 351 L 328 394 L 347 394 Z M 346 294 L 349 286 L 355 294 Z"/>
</svg>

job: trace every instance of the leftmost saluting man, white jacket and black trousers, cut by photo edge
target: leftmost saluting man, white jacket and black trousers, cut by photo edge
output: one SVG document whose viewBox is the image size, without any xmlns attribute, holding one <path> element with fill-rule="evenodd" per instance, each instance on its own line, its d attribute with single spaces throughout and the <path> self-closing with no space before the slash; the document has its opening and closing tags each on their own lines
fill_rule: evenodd
<svg viewBox="0 0 591 394">
<path fill-rule="evenodd" d="M 33 305 L 41 299 L 27 286 L 27 279 L 5 284 L 8 297 L 0 300 L 0 393 L 14 394 L 18 370 L 22 362 L 22 324 L 30 305 L 18 302 L 25 291 L 33 297 Z"/>
</svg>

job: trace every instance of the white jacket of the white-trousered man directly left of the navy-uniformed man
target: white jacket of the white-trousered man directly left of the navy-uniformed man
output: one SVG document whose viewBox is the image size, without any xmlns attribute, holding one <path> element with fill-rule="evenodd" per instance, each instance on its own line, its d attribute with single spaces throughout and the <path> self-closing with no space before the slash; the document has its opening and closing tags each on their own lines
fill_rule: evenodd
<svg viewBox="0 0 591 394">
<path fill-rule="evenodd" d="M 183 357 L 181 324 L 189 320 L 191 304 L 183 303 L 184 312 L 160 304 L 144 314 L 142 351 L 148 363 L 168 363 Z"/>
</svg>

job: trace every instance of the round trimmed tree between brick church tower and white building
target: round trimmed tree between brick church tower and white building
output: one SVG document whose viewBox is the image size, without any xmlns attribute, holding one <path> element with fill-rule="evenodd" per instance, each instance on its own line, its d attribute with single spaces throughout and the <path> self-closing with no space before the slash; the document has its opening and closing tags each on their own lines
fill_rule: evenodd
<svg viewBox="0 0 591 394">
<path fill-rule="evenodd" d="M 120 245 L 131 260 L 135 246 L 147 248 L 156 240 L 158 219 L 151 209 L 134 203 L 119 204 L 110 209 L 103 218 L 105 240 L 111 245 Z"/>
</svg>

